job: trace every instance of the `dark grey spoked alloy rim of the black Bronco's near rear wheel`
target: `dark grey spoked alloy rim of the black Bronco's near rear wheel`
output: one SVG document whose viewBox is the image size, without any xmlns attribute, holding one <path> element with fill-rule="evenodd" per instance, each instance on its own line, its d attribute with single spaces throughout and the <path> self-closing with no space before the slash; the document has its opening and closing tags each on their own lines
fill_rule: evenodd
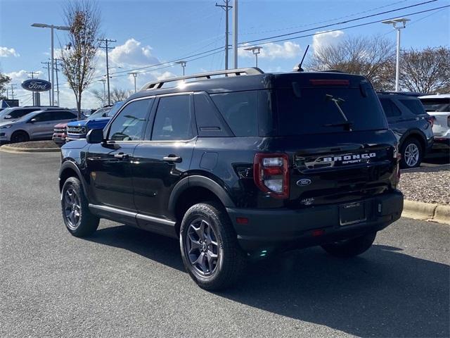
<svg viewBox="0 0 450 338">
<path fill-rule="evenodd" d="M 196 218 L 188 227 L 185 252 L 189 262 L 202 276 L 210 276 L 217 268 L 219 247 L 214 229 L 203 218 Z"/>
</svg>

